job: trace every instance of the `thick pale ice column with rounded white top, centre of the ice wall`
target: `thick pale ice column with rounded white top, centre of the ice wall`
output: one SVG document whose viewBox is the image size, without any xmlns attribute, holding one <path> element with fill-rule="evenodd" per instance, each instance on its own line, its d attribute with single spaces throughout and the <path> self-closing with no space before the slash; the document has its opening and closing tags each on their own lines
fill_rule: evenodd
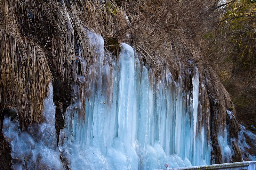
<svg viewBox="0 0 256 170">
<path fill-rule="evenodd" d="M 132 134 L 136 130 L 136 89 L 134 86 L 134 52 L 132 47 L 122 43 L 119 57 L 118 137 L 127 142 L 128 145 L 128 143 L 134 142 L 135 139 L 132 138 Z"/>
</svg>

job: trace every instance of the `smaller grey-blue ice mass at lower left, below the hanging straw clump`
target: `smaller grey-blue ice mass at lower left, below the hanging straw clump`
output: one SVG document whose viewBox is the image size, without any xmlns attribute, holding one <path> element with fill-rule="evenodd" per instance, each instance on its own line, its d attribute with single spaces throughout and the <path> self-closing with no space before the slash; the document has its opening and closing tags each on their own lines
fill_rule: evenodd
<svg viewBox="0 0 256 170">
<path fill-rule="evenodd" d="M 63 169 L 57 147 L 52 84 L 44 100 L 42 123 L 31 124 L 28 131 L 21 131 L 17 118 L 11 122 L 5 116 L 3 134 L 10 143 L 13 169 Z"/>
</svg>

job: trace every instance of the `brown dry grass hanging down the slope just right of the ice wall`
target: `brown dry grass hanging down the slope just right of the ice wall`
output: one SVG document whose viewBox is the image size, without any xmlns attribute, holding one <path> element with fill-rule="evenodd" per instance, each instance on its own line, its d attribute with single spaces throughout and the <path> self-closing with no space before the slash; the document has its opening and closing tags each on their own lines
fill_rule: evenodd
<svg viewBox="0 0 256 170">
<path fill-rule="evenodd" d="M 218 134 L 224 134 L 224 128 L 226 128 L 226 124 L 229 124 L 230 128 L 230 138 L 238 139 L 238 133 L 240 131 L 240 125 L 235 119 L 232 117 L 229 122 L 227 122 L 227 109 L 234 108 L 234 104 L 231 102 L 231 96 L 228 94 L 227 90 L 224 88 L 223 84 L 220 82 L 220 78 L 215 74 L 214 70 L 211 67 L 204 68 L 205 75 L 205 84 L 206 89 L 209 94 L 209 98 L 214 103 L 215 106 L 211 106 L 212 109 L 212 143 L 214 152 L 218 150 Z M 235 110 L 233 110 L 234 115 L 236 115 Z M 230 139 L 229 139 L 230 140 Z M 240 148 L 237 146 L 235 142 L 232 143 L 232 148 L 235 152 L 235 156 L 232 161 L 239 162 L 242 160 L 242 155 Z M 219 154 L 215 154 L 216 163 L 223 163 L 222 156 Z M 217 161 L 218 160 L 218 161 Z"/>
</svg>

